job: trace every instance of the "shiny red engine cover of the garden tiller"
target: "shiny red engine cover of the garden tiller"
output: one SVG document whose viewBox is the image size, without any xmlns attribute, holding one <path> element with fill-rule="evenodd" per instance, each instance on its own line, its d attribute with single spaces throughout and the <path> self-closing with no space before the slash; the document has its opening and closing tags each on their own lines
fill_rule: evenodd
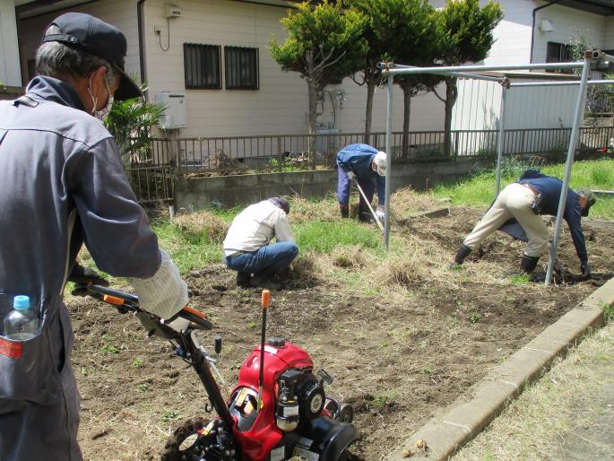
<svg viewBox="0 0 614 461">
<path fill-rule="evenodd" d="M 254 425 L 249 431 L 238 431 L 234 435 L 238 439 L 245 461 L 263 461 L 268 457 L 283 437 L 283 432 L 275 423 L 275 398 L 277 394 L 277 379 L 285 370 L 313 370 L 314 361 L 309 354 L 294 344 L 282 347 L 264 345 L 264 385 L 263 408 L 258 414 Z M 249 387 L 258 392 L 260 378 L 260 346 L 247 357 L 238 372 L 238 384 L 233 395 L 240 387 Z"/>
</svg>

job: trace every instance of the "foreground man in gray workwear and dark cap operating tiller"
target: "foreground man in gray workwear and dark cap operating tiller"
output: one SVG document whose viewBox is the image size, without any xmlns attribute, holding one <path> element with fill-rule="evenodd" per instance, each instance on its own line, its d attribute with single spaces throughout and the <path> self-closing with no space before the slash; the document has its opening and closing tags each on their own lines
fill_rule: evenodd
<svg viewBox="0 0 614 461">
<path fill-rule="evenodd" d="M 143 309 L 171 318 L 187 301 L 100 121 L 114 98 L 141 95 L 124 72 L 124 35 L 67 13 L 42 41 L 26 94 L 0 101 L 0 326 L 15 295 L 29 296 L 39 319 L 39 335 L 27 342 L 0 329 L 2 461 L 82 460 L 62 297 L 66 280 L 104 282 L 75 264 L 83 243 L 101 270 L 128 278 Z"/>
</svg>

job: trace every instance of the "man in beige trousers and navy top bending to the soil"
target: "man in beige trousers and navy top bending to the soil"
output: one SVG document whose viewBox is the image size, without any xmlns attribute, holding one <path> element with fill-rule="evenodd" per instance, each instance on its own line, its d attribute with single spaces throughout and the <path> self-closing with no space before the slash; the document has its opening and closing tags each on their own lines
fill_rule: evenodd
<svg viewBox="0 0 614 461">
<path fill-rule="evenodd" d="M 463 264 L 464 258 L 469 256 L 471 250 L 479 246 L 483 239 L 497 231 L 508 220 L 515 218 L 523 227 L 528 239 L 520 268 L 523 272 L 531 274 L 540 256 L 548 249 L 548 228 L 540 215 L 557 215 L 562 187 L 563 181 L 558 178 L 546 176 L 537 170 L 525 171 L 518 182 L 510 184 L 501 191 L 489 211 L 465 237 L 454 258 L 454 264 Z M 563 219 L 567 222 L 571 238 L 574 240 L 575 252 L 580 259 L 580 272 L 584 278 L 590 278 L 591 268 L 588 265 L 588 254 L 580 221 L 581 216 L 588 216 L 589 208 L 594 203 L 595 199 L 590 190 L 567 191 Z"/>
</svg>

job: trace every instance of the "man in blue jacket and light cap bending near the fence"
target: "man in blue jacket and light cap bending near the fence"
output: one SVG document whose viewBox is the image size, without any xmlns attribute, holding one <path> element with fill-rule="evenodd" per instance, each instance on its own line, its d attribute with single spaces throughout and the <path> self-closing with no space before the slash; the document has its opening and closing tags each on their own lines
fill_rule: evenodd
<svg viewBox="0 0 614 461">
<path fill-rule="evenodd" d="M 350 179 L 358 182 L 369 203 L 377 187 L 376 217 L 385 219 L 385 167 L 386 154 L 368 144 L 346 145 L 337 153 L 337 198 L 342 218 L 350 216 Z M 371 213 L 364 198 L 359 200 L 359 221 L 370 222 Z"/>
</svg>

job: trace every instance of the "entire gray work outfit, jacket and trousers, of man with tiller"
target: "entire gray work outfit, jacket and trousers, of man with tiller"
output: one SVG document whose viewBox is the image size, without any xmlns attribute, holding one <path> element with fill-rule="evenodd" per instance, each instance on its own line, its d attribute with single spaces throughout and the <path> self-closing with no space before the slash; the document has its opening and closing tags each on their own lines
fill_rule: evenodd
<svg viewBox="0 0 614 461">
<path fill-rule="evenodd" d="M 2 461 L 82 459 L 61 295 L 83 243 L 108 274 L 149 278 L 160 266 L 115 141 L 69 84 L 36 77 L 25 98 L 0 101 L 0 329 L 17 294 L 40 322 L 28 341 L 0 337 Z"/>
</svg>

